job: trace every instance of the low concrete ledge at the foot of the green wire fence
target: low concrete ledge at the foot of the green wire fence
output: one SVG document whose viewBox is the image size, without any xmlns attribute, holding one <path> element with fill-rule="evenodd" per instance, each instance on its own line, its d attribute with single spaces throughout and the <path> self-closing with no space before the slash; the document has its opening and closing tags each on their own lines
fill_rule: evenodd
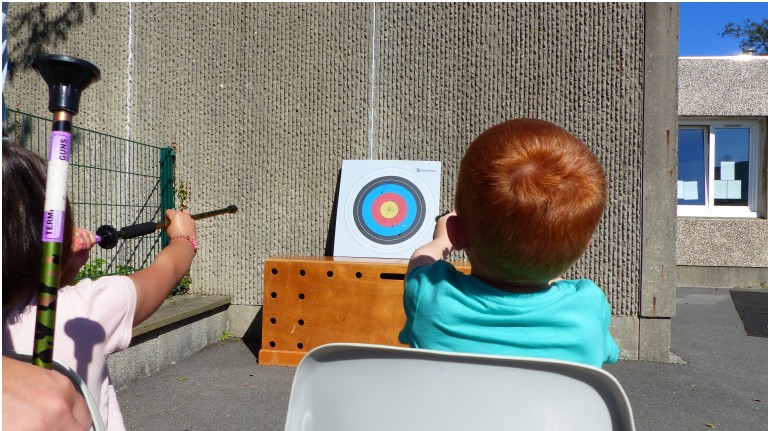
<svg viewBox="0 0 768 431">
<path fill-rule="evenodd" d="M 183 295 L 167 299 L 133 329 L 131 345 L 109 356 L 112 382 L 119 388 L 174 364 L 221 339 L 227 329 L 228 295 Z"/>
</svg>

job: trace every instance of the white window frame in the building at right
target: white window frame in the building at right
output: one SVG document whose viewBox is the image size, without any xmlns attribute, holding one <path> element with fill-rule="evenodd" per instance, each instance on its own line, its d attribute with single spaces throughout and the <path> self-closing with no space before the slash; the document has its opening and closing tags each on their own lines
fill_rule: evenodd
<svg viewBox="0 0 768 431">
<path fill-rule="evenodd" d="M 704 205 L 677 205 L 678 217 L 719 217 L 719 218 L 757 218 L 760 204 L 759 165 L 761 156 L 760 136 L 762 122 L 757 118 L 745 117 L 685 117 L 678 119 L 678 132 L 681 128 L 704 128 L 706 164 L 704 187 Z M 749 129 L 749 189 L 747 206 L 715 206 L 715 129 Z M 679 148 L 678 148 L 679 151 Z M 679 178 L 679 177 L 678 177 Z M 677 184 L 677 183 L 676 183 Z M 676 190 L 677 192 L 677 190 Z M 676 193 L 677 196 L 677 193 Z"/>
</svg>

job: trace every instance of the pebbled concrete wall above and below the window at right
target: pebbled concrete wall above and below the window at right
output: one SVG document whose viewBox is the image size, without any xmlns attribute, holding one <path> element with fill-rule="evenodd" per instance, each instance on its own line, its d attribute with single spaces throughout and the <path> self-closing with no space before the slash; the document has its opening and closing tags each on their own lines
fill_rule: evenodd
<svg viewBox="0 0 768 431">
<path fill-rule="evenodd" d="M 686 117 L 768 116 L 768 58 L 681 58 L 678 113 Z M 763 121 L 758 219 L 679 218 L 677 264 L 691 267 L 763 268 L 747 280 L 768 282 L 768 138 Z M 758 277 L 758 278 L 755 278 Z M 763 277 L 762 280 L 759 280 Z M 734 277 L 735 279 L 736 277 Z M 686 282 L 689 277 L 682 279 Z M 720 286 L 720 280 L 713 280 Z"/>
</svg>

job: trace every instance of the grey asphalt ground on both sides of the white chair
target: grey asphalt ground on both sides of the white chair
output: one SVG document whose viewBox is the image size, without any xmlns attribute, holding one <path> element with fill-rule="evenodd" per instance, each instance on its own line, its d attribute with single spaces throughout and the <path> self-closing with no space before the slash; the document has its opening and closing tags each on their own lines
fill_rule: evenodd
<svg viewBox="0 0 768 431">
<path fill-rule="evenodd" d="M 726 289 L 677 296 L 672 351 L 685 364 L 605 367 L 627 392 L 638 431 L 768 431 L 768 338 L 746 335 Z M 129 430 L 282 430 L 293 374 L 258 365 L 247 345 L 230 340 L 117 396 Z"/>
</svg>

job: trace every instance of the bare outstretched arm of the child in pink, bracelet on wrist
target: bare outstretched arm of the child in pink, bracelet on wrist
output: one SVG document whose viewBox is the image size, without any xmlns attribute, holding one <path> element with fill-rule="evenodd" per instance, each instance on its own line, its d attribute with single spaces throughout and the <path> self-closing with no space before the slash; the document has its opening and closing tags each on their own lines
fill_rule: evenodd
<svg viewBox="0 0 768 431">
<path fill-rule="evenodd" d="M 165 230 L 171 243 L 155 256 L 152 265 L 128 276 L 136 287 L 133 326 L 146 320 L 160 307 L 176 283 L 189 272 L 195 257 L 195 221 L 186 211 L 166 210 L 165 216 L 171 221 Z"/>
</svg>

